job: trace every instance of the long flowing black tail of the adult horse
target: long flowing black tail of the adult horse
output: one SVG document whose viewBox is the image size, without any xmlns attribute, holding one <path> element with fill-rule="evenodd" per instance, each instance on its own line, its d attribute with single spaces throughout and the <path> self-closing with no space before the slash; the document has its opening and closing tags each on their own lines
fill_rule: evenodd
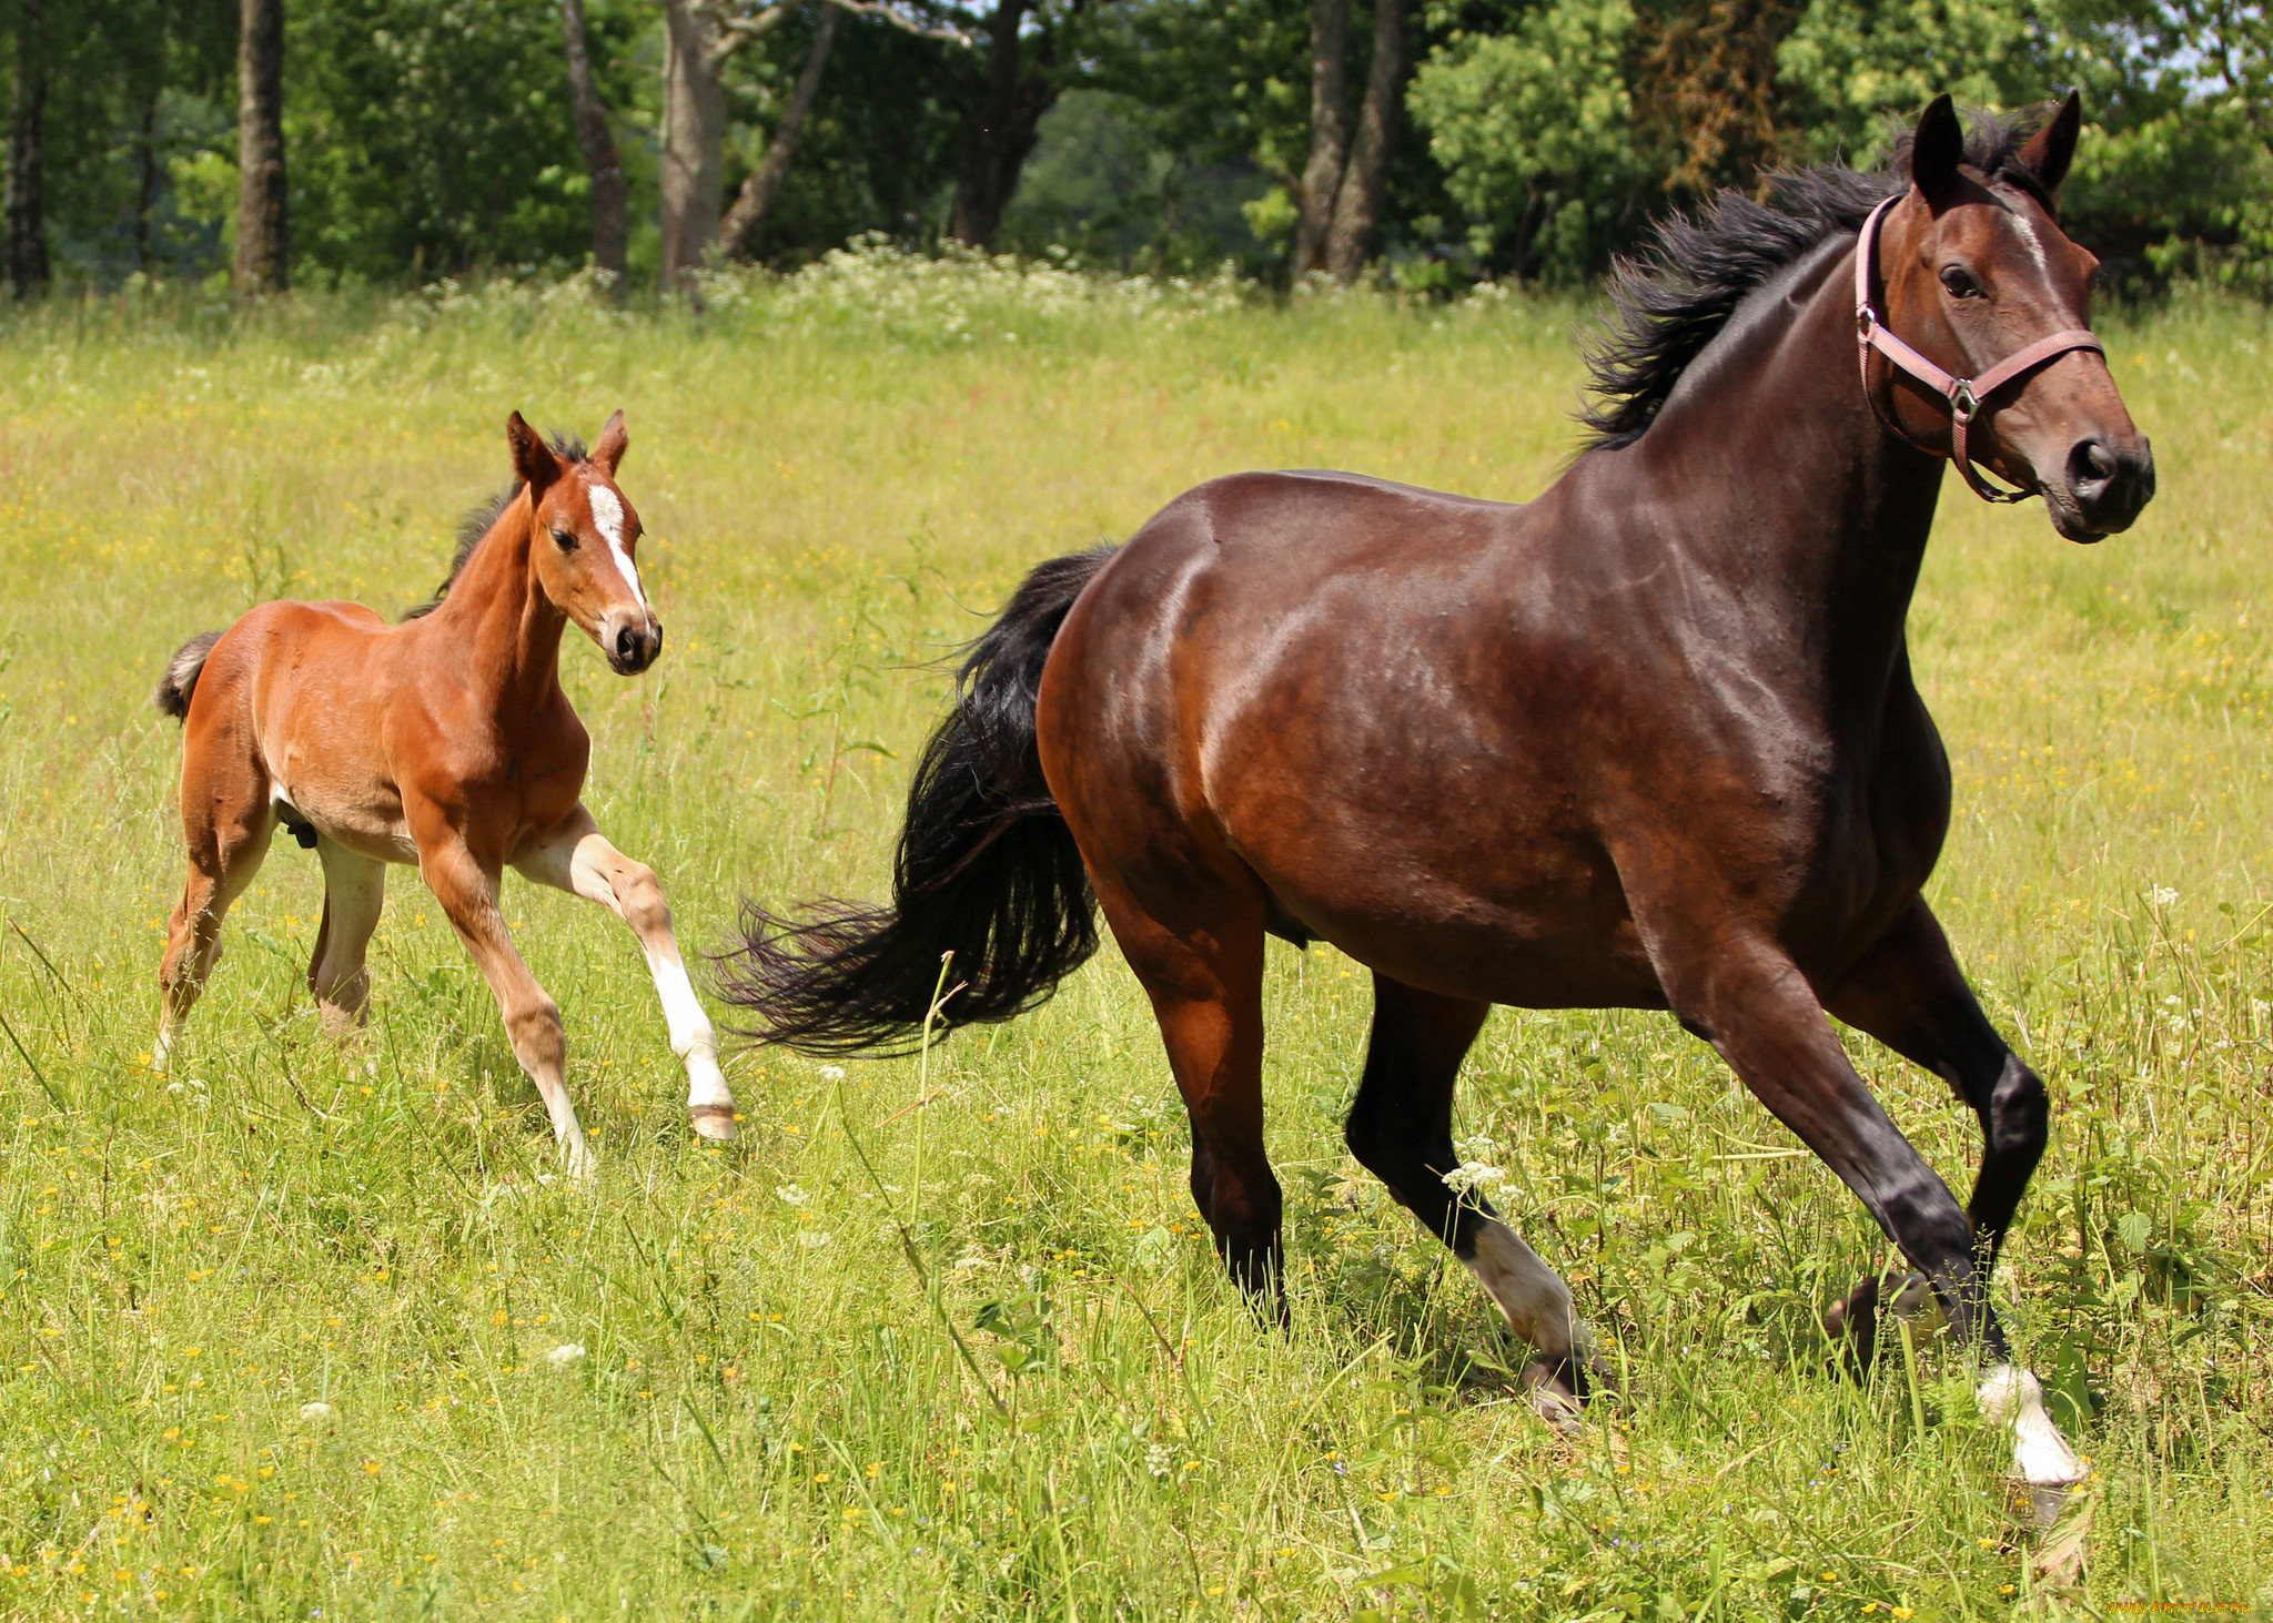
<svg viewBox="0 0 2273 1623">
<path fill-rule="evenodd" d="M 746 1027 L 805 1052 L 905 1052 L 955 952 L 941 1030 L 1007 1021 L 1098 950 L 1096 898 L 1034 748 L 1034 693 L 1066 609 L 1111 548 L 1059 557 L 971 646 L 955 709 L 923 746 L 891 907 L 823 900 L 802 923 L 743 902 L 723 973 Z"/>
</svg>

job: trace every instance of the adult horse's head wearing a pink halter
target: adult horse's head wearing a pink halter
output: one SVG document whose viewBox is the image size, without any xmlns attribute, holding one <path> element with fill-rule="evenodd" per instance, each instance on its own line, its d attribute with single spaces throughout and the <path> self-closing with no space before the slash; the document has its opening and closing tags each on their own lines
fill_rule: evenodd
<svg viewBox="0 0 2273 1623">
<path fill-rule="evenodd" d="M 2018 150 L 1968 155 L 1948 95 L 1918 118 L 1909 195 L 1887 214 L 1880 250 L 1884 309 L 1889 327 L 1955 377 L 1980 377 L 2039 339 L 2091 325 L 2100 261 L 2053 216 L 2080 127 L 2073 93 Z M 1884 389 L 1882 377 L 1875 371 L 1873 386 Z M 1909 377 L 1896 377 L 1891 398 L 1914 439 L 1948 439 L 1941 400 Z M 2128 530 L 2155 493 L 2155 455 L 2098 350 L 2068 350 L 1982 400 L 1973 455 L 2039 491 L 2071 541 Z"/>
</svg>

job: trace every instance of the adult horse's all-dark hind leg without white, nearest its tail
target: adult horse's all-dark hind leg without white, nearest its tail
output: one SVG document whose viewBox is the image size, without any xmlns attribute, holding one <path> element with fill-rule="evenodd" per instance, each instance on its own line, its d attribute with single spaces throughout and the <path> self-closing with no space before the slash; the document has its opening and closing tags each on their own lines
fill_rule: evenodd
<svg viewBox="0 0 2273 1623">
<path fill-rule="evenodd" d="M 1191 1200 L 1232 1282 L 1287 1323 L 1280 1282 L 1280 1184 L 1264 1157 L 1262 900 L 1227 902 L 1177 925 L 1098 884 L 1105 923 L 1159 1021 L 1191 1116 Z"/>
</svg>

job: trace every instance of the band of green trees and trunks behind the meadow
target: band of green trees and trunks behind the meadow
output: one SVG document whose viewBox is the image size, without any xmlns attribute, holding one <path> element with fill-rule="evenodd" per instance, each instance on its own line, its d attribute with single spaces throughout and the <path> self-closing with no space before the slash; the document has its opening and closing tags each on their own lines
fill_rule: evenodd
<svg viewBox="0 0 2273 1623">
<path fill-rule="evenodd" d="M 861 234 L 1573 284 L 1666 207 L 2078 86 L 2116 286 L 2273 291 L 2241 0 L 0 0 L 5 277 L 698 291 Z"/>
</svg>

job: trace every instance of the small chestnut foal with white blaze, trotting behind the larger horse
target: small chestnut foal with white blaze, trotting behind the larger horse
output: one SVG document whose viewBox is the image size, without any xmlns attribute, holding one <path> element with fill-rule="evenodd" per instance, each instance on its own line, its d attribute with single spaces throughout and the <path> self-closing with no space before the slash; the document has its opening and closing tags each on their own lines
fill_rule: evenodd
<svg viewBox="0 0 2273 1623">
<path fill-rule="evenodd" d="M 498 909 L 507 864 L 611 907 L 639 937 L 686 1064 L 686 1109 L 734 1137 L 709 1016 L 696 1000 L 655 873 L 607 843 L 584 809 L 591 734 L 559 684 L 573 621 L 618 675 L 664 650 L 639 584 L 639 511 L 616 484 L 623 411 L 586 452 L 548 446 L 518 411 L 505 436 L 514 486 L 468 521 L 441 596 L 389 625 L 359 602 L 264 602 L 193 636 L 166 666 L 159 711 L 184 723 L 189 882 L 166 932 L 155 1064 L 166 1066 L 220 957 L 220 921 L 284 823 L 323 862 L 309 991 L 334 1032 L 364 1023 L 364 948 L 386 864 L 418 864 L 505 1014 L 571 1175 L 591 1146 L 568 1100 L 561 1014 Z"/>
</svg>

